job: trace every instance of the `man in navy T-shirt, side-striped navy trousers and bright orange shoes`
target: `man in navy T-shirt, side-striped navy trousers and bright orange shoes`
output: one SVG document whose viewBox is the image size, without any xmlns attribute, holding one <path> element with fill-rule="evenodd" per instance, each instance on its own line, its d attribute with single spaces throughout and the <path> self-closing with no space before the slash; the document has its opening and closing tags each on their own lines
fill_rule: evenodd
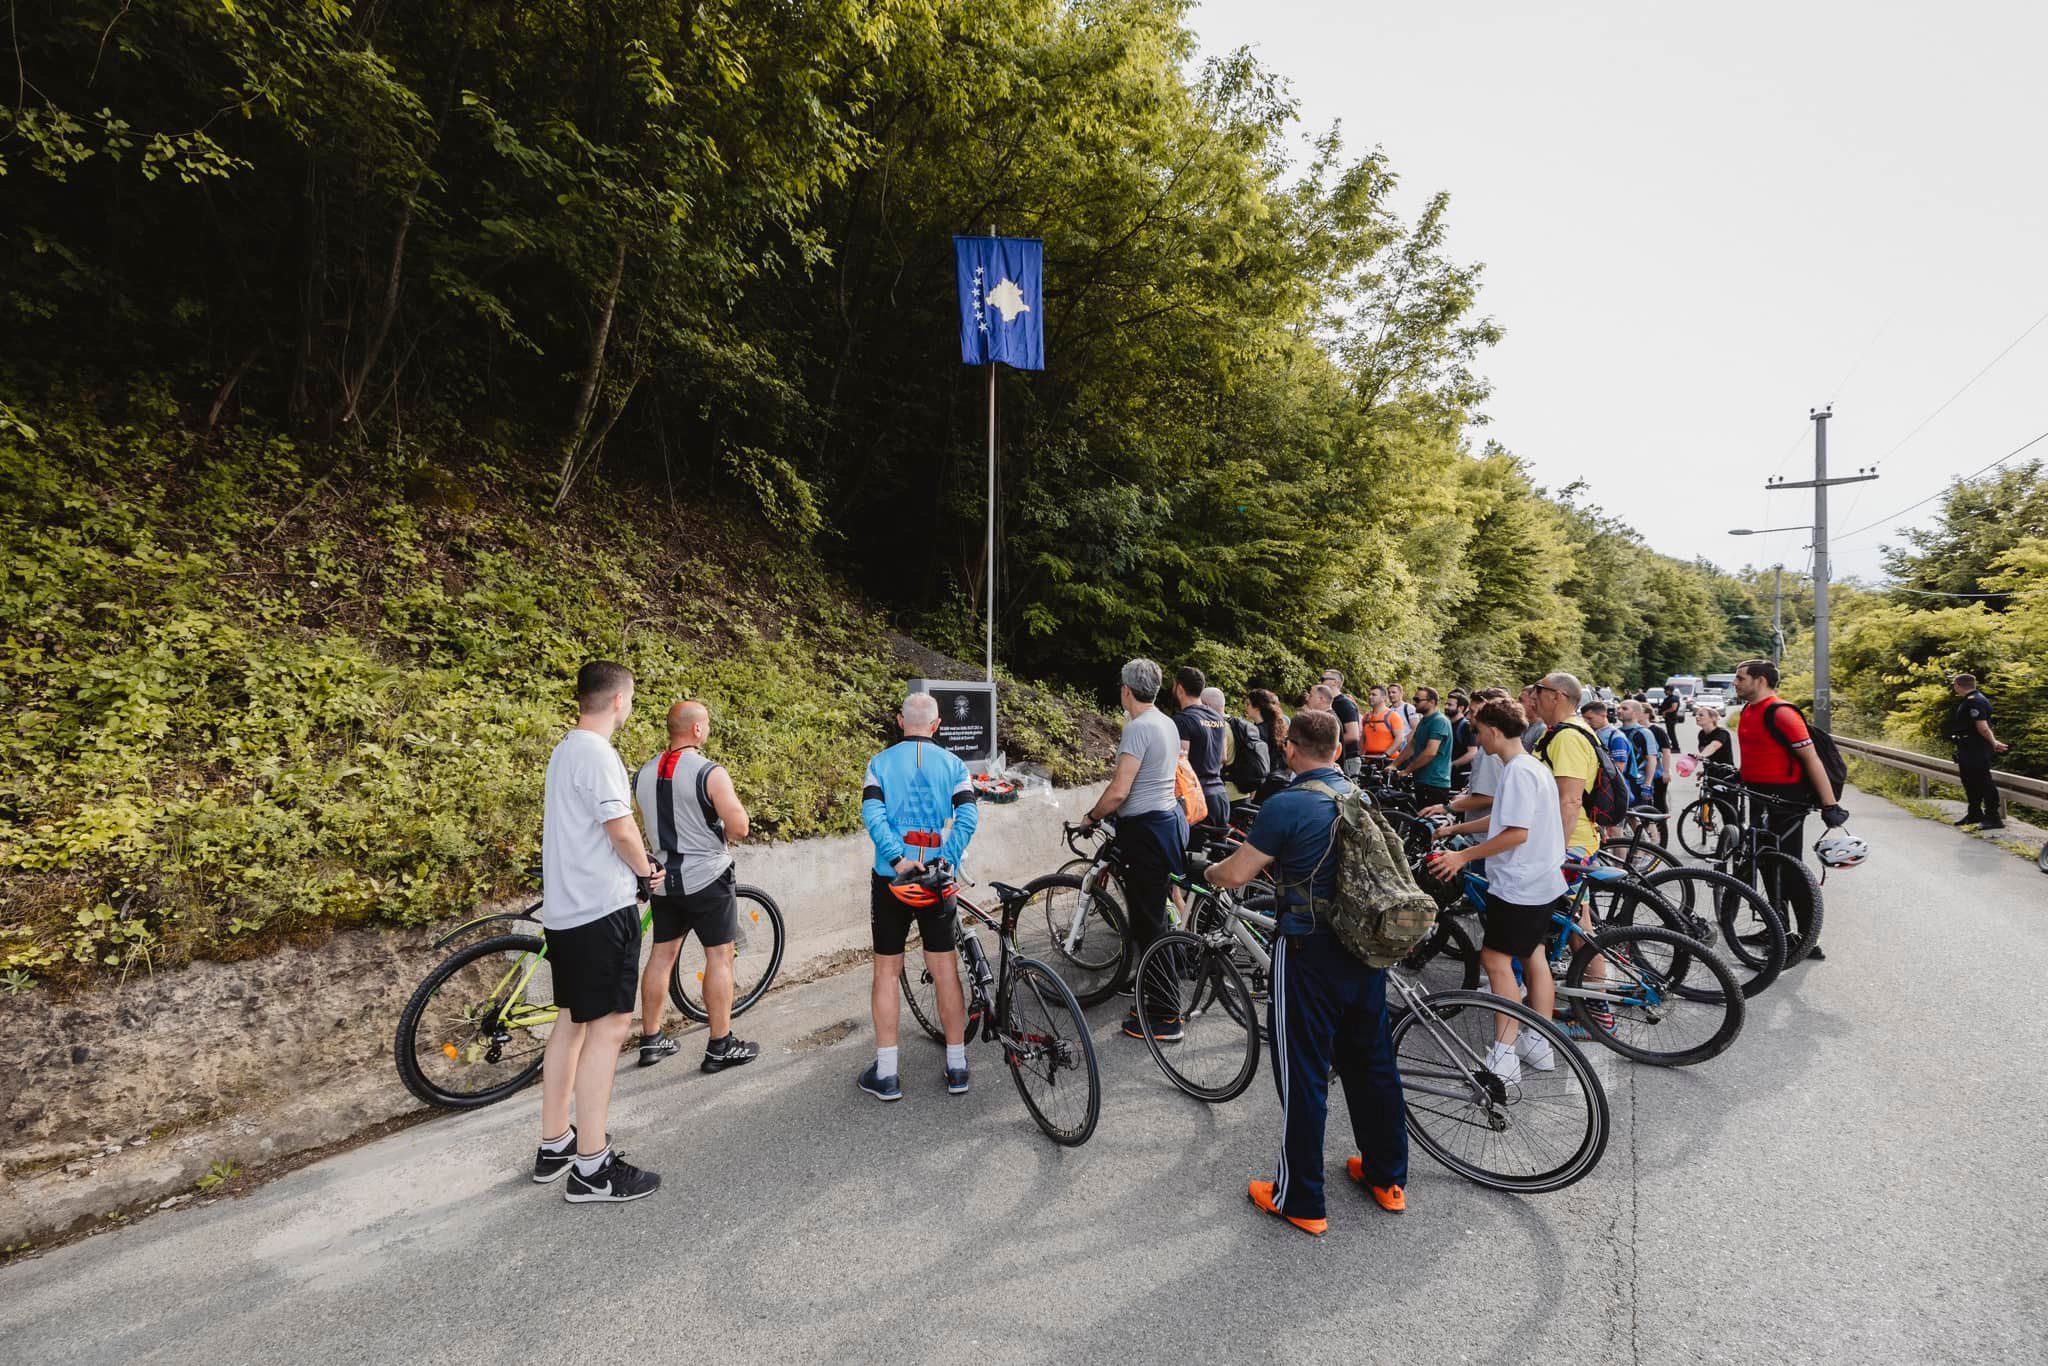
<svg viewBox="0 0 2048 1366">
<path fill-rule="evenodd" d="M 1337 883 L 1337 803 L 1317 786 L 1346 791 L 1337 770 L 1337 717 L 1300 711 L 1284 741 L 1294 782 L 1266 799 L 1251 836 L 1206 877 L 1217 887 L 1243 887 L 1278 864 L 1280 934 L 1274 938 L 1272 1051 L 1286 1139 L 1272 1182 L 1251 1182 L 1251 1202 L 1307 1233 L 1323 1233 L 1323 1124 L 1329 1116 L 1329 1073 L 1343 1081 L 1358 1155 L 1348 1169 L 1384 1210 L 1407 1208 L 1407 1112 L 1386 1020 L 1386 973 L 1360 963 L 1309 897 L 1331 895 Z"/>
</svg>

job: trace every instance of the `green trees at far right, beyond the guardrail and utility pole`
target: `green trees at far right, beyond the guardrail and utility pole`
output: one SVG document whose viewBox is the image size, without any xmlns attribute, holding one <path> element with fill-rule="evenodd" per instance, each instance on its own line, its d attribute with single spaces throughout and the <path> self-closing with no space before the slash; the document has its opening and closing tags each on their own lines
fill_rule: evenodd
<svg viewBox="0 0 2048 1366">
<path fill-rule="evenodd" d="M 1890 588 L 1829 598 L 1843 729 L 1948 754 L 1950 678 L 1970 672 L 2013 745 L 2001 766 L 2048 778 L 2048 469 L 1956 483 L 1886 569 Z M 1810 641 L 1798 657 L 1810 678 Z"/>
</svg>

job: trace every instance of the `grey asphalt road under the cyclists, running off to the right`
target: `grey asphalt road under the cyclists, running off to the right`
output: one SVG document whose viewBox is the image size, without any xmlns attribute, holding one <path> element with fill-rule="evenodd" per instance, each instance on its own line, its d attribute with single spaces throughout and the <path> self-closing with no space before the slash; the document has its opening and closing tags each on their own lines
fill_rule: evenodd
<svg viewBox="0 0 2048 1366">
<path fill-rule="evenodd" d="M 1309 1239 L 1245 1202 L 1276 1149 L 1264 1067 L 1204 1108 L 1106 1008 L 1102 1126 L 1063 1151 L 987 1044 L 967 1098 L 922 1040 L 901 1104 L 860 1096 L 850 973 L 750 1016 L 743 1071 L 696 1073 L 696 1036 L 621 1075 L 651 1200 L 532 1186 L 528 1092 L 0 1272 L 0 1358 L 2040 1362 L 2048 879 L 1849 805 L 1878 854 L 1829 881 L 1829 961 L 1704 1067 L 1604 1065 L 1616 1135 L 1567 1192 L 1417 1149 L 1382 1214 L 1341 1180 L 1339 1110 Z"/>
</svg>

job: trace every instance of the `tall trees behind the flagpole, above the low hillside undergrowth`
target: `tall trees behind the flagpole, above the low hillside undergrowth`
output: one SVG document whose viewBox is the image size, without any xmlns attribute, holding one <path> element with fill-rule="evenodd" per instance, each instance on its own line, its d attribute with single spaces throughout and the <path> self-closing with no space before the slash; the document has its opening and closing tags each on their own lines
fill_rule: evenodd
<svg viewBox="0 0 2048 1366">
<path fill-rule="evenodd" d="M 950 233 L 1047 240 L 1001 385 L 1001 657 L 1227 686 L 1640 682 L 1720 664 L 1708 575 L 1470 451 L 1499 328 L 1448 203 L 1300 141 L 1182 0 L 35 6 L 0 111 L 18 383 L 166 375 L 205 424 L 453 418 L 821 539 L 961 653 L 983 377 Z M 532 457 L 528 457 L 532 459 Z M 1720 606 L 1720 610 L 1716 610 Z"/>
</svg>

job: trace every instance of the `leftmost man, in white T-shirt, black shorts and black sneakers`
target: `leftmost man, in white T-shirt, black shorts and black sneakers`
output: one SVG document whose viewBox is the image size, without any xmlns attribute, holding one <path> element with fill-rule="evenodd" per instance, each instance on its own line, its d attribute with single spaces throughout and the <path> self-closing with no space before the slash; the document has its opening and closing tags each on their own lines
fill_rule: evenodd
<svg viewBox="0 0 2048 1366">
<path fill-rule="evenodd" d="M 541 1153 L 532 1180 L 567 1176 L 571 1204 L 639 1200 L 662 1178 L 641 1171 L 604 1133 L 618 1049 L 639 987 L 639 903 L 659 868 L 633 821 L 627 766 L 612 733 L 633 713 L 633 674 L 594 661 L 575 674 L 575 729 L 547 760 L 541 825 L 541 930 L 561 1016 L 541 1061 Z M 582 1128 L 569 1124 L 569 1102 Z M 553 1137 L 551 1137 L 553 1135 Z"/>
</svg>

